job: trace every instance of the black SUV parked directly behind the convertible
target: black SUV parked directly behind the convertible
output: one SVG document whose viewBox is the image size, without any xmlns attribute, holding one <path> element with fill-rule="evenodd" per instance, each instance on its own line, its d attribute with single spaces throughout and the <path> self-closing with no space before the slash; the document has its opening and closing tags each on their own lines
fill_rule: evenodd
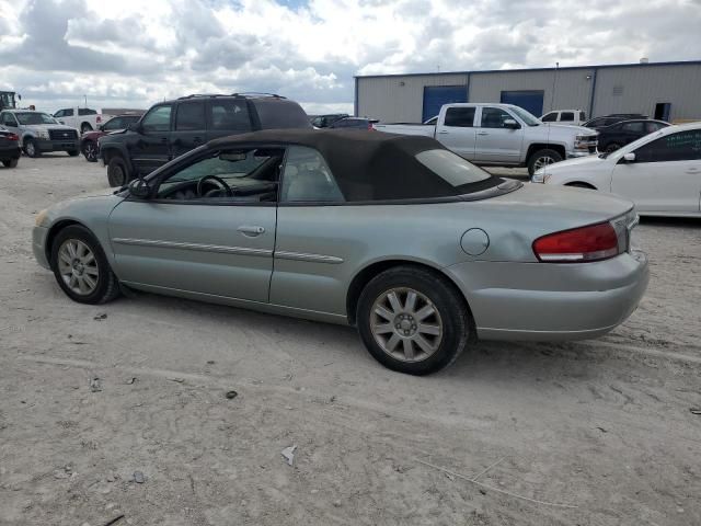
<svg viewBox="0 0 701 526">
<path fill-rule="evenodd" d="M 110 185 L 122 186 L 217 137 L 311 127 L 301 106 L 284 96 L 188 95 L 158 103 L 125 132 L 101 137 L 100 157 Z"/>
</svg>

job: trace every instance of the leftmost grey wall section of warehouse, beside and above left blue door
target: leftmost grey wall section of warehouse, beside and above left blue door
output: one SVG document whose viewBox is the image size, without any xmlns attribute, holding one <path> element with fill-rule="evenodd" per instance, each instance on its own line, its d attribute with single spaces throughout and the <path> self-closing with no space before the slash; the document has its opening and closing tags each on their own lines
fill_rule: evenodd
<svg viewBox="0 0 701 526">
<path fill-rule="evenodd" d="M 357 113 L 386 123 L 421 123 L 424 85 L 463 84 L 467 89 L 467 75 L 359 78 Z"/>
</svg>

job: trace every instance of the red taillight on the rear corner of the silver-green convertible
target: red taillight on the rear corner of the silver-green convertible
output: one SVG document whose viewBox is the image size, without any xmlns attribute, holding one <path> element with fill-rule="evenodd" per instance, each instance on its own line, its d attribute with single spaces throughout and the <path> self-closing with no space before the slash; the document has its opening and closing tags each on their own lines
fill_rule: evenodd
<svg viewBox="0 0 701 526">
<path fill-rule="evenodd" d="M 538 238 L 533 241 L 533 252 L 540 261 L 549 263 L 601 261 L 624 252 L 627 237 L 625 230 L 618 232 L 607 221 Z"/>
</svg>

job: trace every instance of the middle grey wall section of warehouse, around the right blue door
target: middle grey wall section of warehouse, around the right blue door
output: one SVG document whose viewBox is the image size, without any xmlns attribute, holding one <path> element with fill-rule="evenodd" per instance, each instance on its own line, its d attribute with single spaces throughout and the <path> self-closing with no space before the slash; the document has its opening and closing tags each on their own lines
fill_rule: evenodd
<svg viewBox="0 0 701 526">
<path fill-rule="evenodd" d="M 554 70 L 471 73 L 470 102 L 499 102 L 502 91 L 542 90 L 543 113 L 584 110 L 588 114 L 593 79 L 593 71 L 588 69 L 561 69 L 556 73 Z"/>
</svg>

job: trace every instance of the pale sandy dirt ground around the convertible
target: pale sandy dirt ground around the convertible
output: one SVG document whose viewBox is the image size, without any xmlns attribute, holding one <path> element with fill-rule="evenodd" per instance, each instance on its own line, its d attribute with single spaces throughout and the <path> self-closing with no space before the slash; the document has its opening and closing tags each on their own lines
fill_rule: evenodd
<svg viewBox="0 0 701 526">
<path fill-rule="evenodd" d="M 104 187 L 82 157 L 0 168 L 1 525 L 701 524 L 701 221 L 643 220 L 650 289 L 609 335 L 414 378 L 349 328 L 71 302 L 33 215 Z"/>
</svg>

